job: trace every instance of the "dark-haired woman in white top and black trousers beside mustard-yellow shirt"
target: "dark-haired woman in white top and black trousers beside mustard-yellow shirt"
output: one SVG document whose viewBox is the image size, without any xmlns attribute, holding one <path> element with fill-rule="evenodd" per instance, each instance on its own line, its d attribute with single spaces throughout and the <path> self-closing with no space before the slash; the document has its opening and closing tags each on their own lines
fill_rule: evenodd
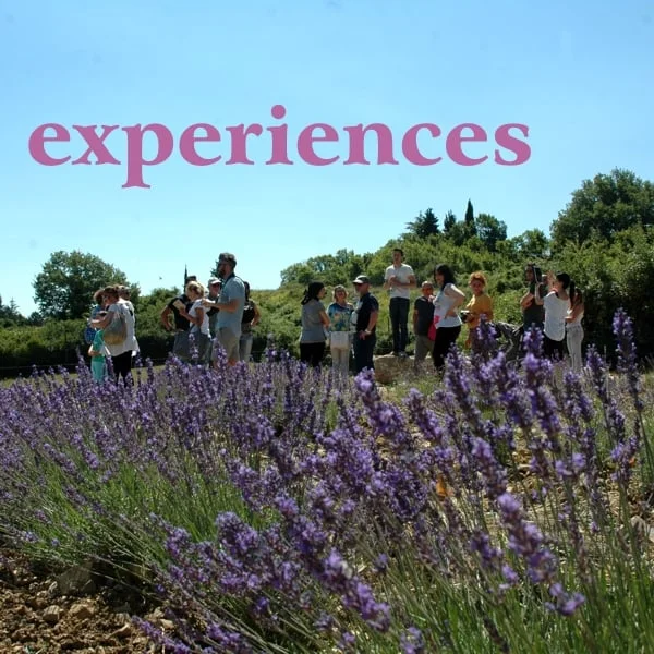
<svg viewBox="0 0 654 654">
<path fill-rule="evenodd" d="M 434 366 L 443 368 L 450 348 L 461 334 L 463 323 L 459 315 L 459 307 L 465 302 L 465 294 L 457 288 L 455 274 L 445 264 L 434 268 L 434 281 L 439 291 L 435 298 L 431 299 L 434 304 L 434 323 L 436 325 L 436 340 L 432 358 Z"/>
</svg>

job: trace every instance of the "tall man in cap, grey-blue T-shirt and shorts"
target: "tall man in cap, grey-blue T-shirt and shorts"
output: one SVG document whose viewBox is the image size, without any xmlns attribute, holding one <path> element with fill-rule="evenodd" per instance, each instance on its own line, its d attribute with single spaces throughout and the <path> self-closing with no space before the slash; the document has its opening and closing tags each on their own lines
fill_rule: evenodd
<svg viewBox="0 0 654 654">
<path fill-rule="evenodd" d="M 221 252 L 218 256 L 218 277 L 222 279 L 220 295 L 216 301 L 208 298 L 203 300 L 207 308 L 218 308 L 216 319 L 216 337 L 211 352 L 214 367 L 218 367 L 218 348 L 221 346 L 227 353 L 229 365 L 240 361 L 239 342 L 241 340 L 241 322 L 245 305 L 245 284 L 234 274 L 237 257 L 230 252 Z"/>
</svg>

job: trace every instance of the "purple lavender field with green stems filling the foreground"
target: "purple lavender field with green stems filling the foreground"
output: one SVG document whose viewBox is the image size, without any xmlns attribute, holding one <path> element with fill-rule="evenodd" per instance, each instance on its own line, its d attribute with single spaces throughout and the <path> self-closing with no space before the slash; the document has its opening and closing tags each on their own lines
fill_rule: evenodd
<svg viewBox="0 0 654 654">
<path fill-rule="evenodd" d="M 610 373 L 534 338 L 521 368 L 453 353 L 404 391 L 272 351 L 19 380 L 0 538 L 137 579 L 169 652 L 652 652 L 654 390 L 614 330 Z"/>
</svg>

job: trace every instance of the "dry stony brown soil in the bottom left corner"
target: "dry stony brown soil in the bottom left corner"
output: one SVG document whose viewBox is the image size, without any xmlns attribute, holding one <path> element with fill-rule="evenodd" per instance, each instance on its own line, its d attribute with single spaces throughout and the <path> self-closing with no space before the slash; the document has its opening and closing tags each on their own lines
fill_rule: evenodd
<svg viewBox="0 0 654 654">
<path fill-rule="evenodd" d="M 131 616 L 149 619 L 168 633 L 164 611 L 137 593 L 96 586 L 84 569 L 39 570 L 23 556 L 0 550 L 1 654 L 155 653 Z"/>
</svg>

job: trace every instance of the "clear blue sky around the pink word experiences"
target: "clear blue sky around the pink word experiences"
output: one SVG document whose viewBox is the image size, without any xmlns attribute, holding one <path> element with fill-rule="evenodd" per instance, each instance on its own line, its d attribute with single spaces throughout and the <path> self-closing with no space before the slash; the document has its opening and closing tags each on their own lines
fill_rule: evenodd
<svg viewBox="0 0 654 654">
<path fill-rule="evenodd" d="M 374 251 L 427 207 L 460 218 L 471 198 L 509 235 L 548 233 L 584 179 L 614 167 L 644 179 L 654 171 L 654 8 L 645 0 L 5 0 L 0 61 L 0 294 L 24 314 L 58 250 L 100 256 L 143 292 L 179 286 L 185 265 L 206 281 L 219 252 L 231 251 L 254 289 L 277 288 L 284 267 L 341 247 Z M 270 116 L 277 104 L 295 164 L 266 166 L 262 136 L 249 145 L 253 166 L 226 166 L 226 128 L 281 124 Z M 175 149 L 145 167 L 150 189 L 122 189 L 120 130 L 106 141 L 120 166 L 32 159 L 31 133 L 55 122 L 71 132 L 162 123 Z M 180 155 L 181 133 L 198 122 L 221 133 L 197 147 L 223 156 L 214 166 Z M 337 164 L 298 157 L 298 134 L 318 122 L 339 141 L 315 152 L 339 155 Z M 342 165 L 343 126 L 371 122 L 392 130 L 398 166 L 374 162 L 374 138 L 371 166 Z M 400 144 L 425 122 L 444 136 L 423 134 L 420 147 L 444 159 L 419 167 Z M 445 134 L 465 122 L 489 135 L 464 146 L 491 155 L 480 166 L 459 166 L 445 150 Z M 493 162 L 493 134 L 505 123 L 529 125 L 531 158 L 521 166 Z M 47 148 L 76 158 L 86 146 L 73 132 Z"/>
</svg>

